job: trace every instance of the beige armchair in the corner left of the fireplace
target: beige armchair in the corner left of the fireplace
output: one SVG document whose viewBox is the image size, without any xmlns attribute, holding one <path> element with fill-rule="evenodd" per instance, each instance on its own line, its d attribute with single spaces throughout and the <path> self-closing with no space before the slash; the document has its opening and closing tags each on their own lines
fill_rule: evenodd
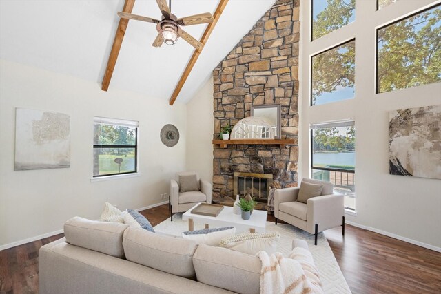
<svg viewBox="0 0 441 294">
<path fill-rule="evenodd" d="M 196 203 L 212 202 L 212 184 L 201 180 L 195 171 L 177 173 L 170 180 L 170 217 L 173 213 L 187 211 Z"/>
</svg>

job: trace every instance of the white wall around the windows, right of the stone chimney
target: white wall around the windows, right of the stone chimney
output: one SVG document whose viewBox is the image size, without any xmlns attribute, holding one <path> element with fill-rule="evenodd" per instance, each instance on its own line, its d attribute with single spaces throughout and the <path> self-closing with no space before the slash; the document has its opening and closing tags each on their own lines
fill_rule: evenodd
<svg viewBox="0 0 441 294">
<path fill-rule="evenodd" d="M 389 111 L 441 103 L 441 83 L 375 94 L 376 28 L 434 1 L 397 1 L 376 12 L 376 1 L 356 1 L 356 21 L 309 41 L 310 1 L 302 1 L 300 41 L 300 173 L 308 178 L 309 124 L 356 122 L 356 216 L 348 222 L 441 250 L 441 180 L 389 175 Z M 356 98 L 309 106 L 311 55 L 356 38 Z"/>
</svg>

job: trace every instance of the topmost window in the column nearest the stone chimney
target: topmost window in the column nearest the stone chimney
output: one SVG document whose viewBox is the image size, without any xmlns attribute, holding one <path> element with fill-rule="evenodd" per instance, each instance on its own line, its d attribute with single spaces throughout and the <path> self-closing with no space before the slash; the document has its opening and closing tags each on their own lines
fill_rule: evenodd
<svg viewBox="0 0 441 294">
<path fill-rule="evenodd" d="M 356 0 L 312 0 L 312 36 L 320 38 L 355 20 Z"/>
</svg>

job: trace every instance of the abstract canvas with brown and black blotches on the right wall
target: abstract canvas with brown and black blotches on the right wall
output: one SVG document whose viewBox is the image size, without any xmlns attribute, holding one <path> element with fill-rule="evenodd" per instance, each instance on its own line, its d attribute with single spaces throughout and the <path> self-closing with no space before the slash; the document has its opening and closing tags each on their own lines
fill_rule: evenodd
<svg viewBox="0 0 441 294">
<path fill-rule="evenodd" d="M 441 105 L 389 112 L 389 174 L 441 179 Z"/>
</svg>

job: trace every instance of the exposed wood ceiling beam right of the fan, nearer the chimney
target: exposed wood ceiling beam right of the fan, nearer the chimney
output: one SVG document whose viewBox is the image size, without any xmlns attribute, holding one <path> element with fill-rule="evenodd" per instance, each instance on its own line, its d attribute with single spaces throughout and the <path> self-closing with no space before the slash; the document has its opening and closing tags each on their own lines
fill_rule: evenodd
<svg viewBox="0 0 441 294">
<path fill-rule="evenodd" d="M 205 45 L 205 43 L 207 43 L 209 35 L 212 34 L 212 31 L 213 31 L 214 27 L 216 26 L 216 23 L 219 20 L 220 14 L 222 14 L 225 6 L 227 6 L 227 3 L 228 3 L 228 0 L 220 0 L 219 5 L 216 8 L 216 11 L 214 12 L 214 15 L 213 15 L 213 22 L 209 23 L 207 25 L 207 28 L 205 29 L 205 32 L 202 35 L 201 43 L 203 45 Z M 185 70 L 181 76 L 181 79 L 179 80 L 178 85 L 176 85 L 176 88 L 174 89 L 172 97 L 170 97 L 170 101 L 169 101 L 170 105 L 173 105 L 174 101 L 176 101 L 176 98 L 178 97 L 179 92 L 181 92 L 185 81 L 187 81 L 187 78 L 188 78 L 190 72 L 192 72 L 194 64 L 198 60 L 199 55 L 201 54 L 202 50 L 203 50 L 203 48 L 194 50 L 192 58 L 187 63 L 187 67 L 185 67 Z"/>
</svg>

